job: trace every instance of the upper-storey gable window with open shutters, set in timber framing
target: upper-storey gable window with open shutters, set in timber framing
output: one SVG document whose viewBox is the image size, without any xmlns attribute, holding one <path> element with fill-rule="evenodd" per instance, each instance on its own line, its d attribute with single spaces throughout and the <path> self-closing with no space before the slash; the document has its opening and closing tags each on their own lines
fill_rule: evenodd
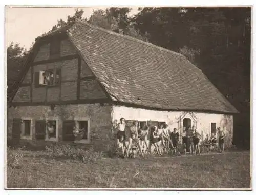
<svg viewBox="0 0 256 195">
<path fill-rule="evenodd" d="M 35 87 L 58 86 L 60 84 L 60 74 L 60 68 L 35 72 Z"/>
</svg>

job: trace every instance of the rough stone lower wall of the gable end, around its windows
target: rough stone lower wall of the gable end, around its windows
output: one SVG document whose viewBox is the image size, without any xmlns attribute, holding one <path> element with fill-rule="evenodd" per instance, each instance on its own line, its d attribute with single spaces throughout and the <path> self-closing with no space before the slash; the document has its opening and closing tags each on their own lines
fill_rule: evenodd
<svg viewBox="0 0 256 195">
<path fill-rule="evenodd" d="M 102 140 L 110 139 L 111 106 L 100 104 L 56 105 L 54 110 L 50 106 L 20 106 L 8 109 L 8 135 L 12 132 L 12 120 L 24 117 L 33 118 L 32 138 L 35 139 L 35 120 L 45 120 L 56 117 L 59 121 L 59 141 L 62 140 L 62 121 L 74 120 L 75 117 L 90 118 L 91 143 L 97 145 Z"/>
</svg>

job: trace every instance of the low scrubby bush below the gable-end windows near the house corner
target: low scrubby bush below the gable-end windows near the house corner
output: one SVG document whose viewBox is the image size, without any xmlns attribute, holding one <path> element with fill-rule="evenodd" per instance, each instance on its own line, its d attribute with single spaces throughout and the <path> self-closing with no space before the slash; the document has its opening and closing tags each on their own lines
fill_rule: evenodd
<svg viewBox="0 0 256 195">
<path fill-rule="evenodd" d="M 46 153 L 51 158 L 64 157 L 82 162 L 97 161 L 102 157 L 102 152 L 96 152 L 93 148 L 82 149 L 69 144 L 46 146 Z"/>
</svg>

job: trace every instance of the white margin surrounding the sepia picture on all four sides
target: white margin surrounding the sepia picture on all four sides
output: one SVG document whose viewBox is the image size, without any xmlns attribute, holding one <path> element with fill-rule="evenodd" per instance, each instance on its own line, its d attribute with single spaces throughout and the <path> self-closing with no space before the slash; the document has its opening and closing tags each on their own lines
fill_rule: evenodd
<svg viewBox="0 0 256 195">
<path fill-rule="evenodd" d="M 73 0 L 72 2 L 71 1 L 48 1 L 48 0 L 46 0 L 46 1 L 44 1 L 44 2 L 42 2 L 41 4 L 40 3 L 38 3 L 38 2 L 35 2 L 35 1 L 31 1 L 31 0 L 27 0 L 27 1 L 17 1 L 17 0 L 13 0 L 13 1 L 6 1 L 6 0 L 4 0 L 4 1 L 2 1 L 0 4 L 2 5 L 2 8 L 3 8 L 3 12 L 1 12 L 0 14 L 1 14 L 1 16 L 2 16 L 2 18 L 4 19 L 5 18 L 5 8 L 4 8 L 4 5 L 5 4 L 8 4 L 8 5 L 33 5 L 33 6 L 44 6 L 45 7 L 45 5 L 47 5 L 47 6 L 53 6 L 53 5 L 58 5 L 58 6 L 56 6 L 56 7 L 59 7 L 59 6 L 66 6 L 67 7 L 67 5 L 68 6 L 71 6 L 71 7 L 73 7 L 73 6 L 75 6 L 75 7 L 77 7 L 76 5 L 81 5 L 82 7 L 84 7 L 84 6 L 100 6 L 100 5 L 104 5 L 104 6 L 108 6 L 108 7 L 113 7 L 114 5 L 121 5 L 121 6 L 119 6 L 119 7 L 125 7 L 125 6 L 141 6 L 141 7 L 145 7 L 145 5 L 148 7 L 148 6 L 156 6 L 156 7 L 160 7 L 160 6 L 189 6 L 189 7 L 201 7 L 201 6 L 215 6 L 215 7 L 219 7 L 219 6 L 226 6 L 226 5 L 229 5 L 229 6 L 237 6 L 237 5 L 240 5 L 240 6 L 250 6 L 250 5 L 254 5 L 254 1 L 237 1 L 237 0 L 233 0 L 233 1 L 225 1 L 225 0 L 222 0 L 222 1 L 196 1 L 196 0 L 194 0 L 194 1 L 188 1 L 188 0 L 186 0 L 186 1 L 184 1 L 184 0 L 180 0 L 180 1 L 178 1 L 178 2 L 176 2 L 176 4 L 175 4 L 175 2 L 172 2 L 172 3 L 170 3 L 170 1 L 161 1 L 161 0 L 159 0 L 159 1 L 134 1 L 134 0 L 132 0 L 132 1 L 129 1 L 129 5 L 127 5 L 127 1 L 123 1 L 123 2 L 120 2 L 120 1 L 108 1 L 108 3 L 106 3 L 105 1 L 103 1 L 103 0 L 101 0 L 101 1 L 99 1 L 99 0 L 95 0 L 95 1 L 91 1 L 91 2 L 86 2 L 87 3 L 87 5 L 81 5 L 82 4 L 82 2 L 81 1 L 76 1 L 76 0 Z M 157 4 L 156 4 L 157 3 Z M 255 11 L 255 8 L 252 8 L 252 10 L 253 11 Z M 252 25 L 252 33 L 253 33 L 253 36 L 254 36 L 254 32 L 255 32 L 255 25 L 254 25 L 254 23 L 255 23 L 255 16 L 254 16 L 255 14 L 252 14 L 252 23 L 253 23 L 253 25 Z M 2 22 L 3 22 L 3 24 L 2 24 L 2 28 L 3 28 L 3 31 L 2 32 L 5 32 L 4 31 L 4 29 L 5 29 L 5 23 L 4 23 L 4 20 L 1 20 Z M 1 44 L 3 44 L 3 48 L 4 48 L 4 50 L 5 50 L 5 45 L 4 45 L 4 43 L 5 43 L 5 39 L 4 39 L 5 37 L 3 36 L 3 40 L 1 41 Z M 255 52 L 255 38 L 252 38 L 252 42 L 253 42 L 253 44 L 252 44 L 252 55 L 251 55 L 251 59 L 252 59 L 252 56 L 254 56 L 254 52 Z M 5 53 L 4 52 L 1 52 L 1 59 L 5 59 Z M 1 87 L 3 87 L 5 90 L 3 90 L 3 91 L 5 91 L 5 93 L 6 93 L 6 88 L 5 88 L 5 86 L 6 86 L 6 62 L 4 62 L 5 64 L 5 66 L 0 66 L 0 72 L 1 73 L 4 73 L 4 75 L 5 76 L 3 76 L 2 77 L 2 80 L 1 80 Z M 254 59 L 253 59 L 253 64 L 254 64 Z M 255 73 L 255 71 L 254 71 L 254 68 L 252 68 L 251 69 L 252 70 L 252 78 L 254 77 L 254 73 Z M 253 79 L 252 79 L 253 80 Z M 253 83 L 253 81 L 251 82 L 251 83 Z M 254 97 L 254 88 L 253 88 L 253 86 L 251 86 L 251 89 L 252 89 L 252 92 L 251 92 L 251 97 Z M 6 112 L 6 94 L 5 93 L 1 93 L 1 108 L 3 109 L 3 111 L 4 112 L 2 112 L 2 114 L 1 114 L 1 116 L 2 116 L 2 120 L 0 120 L 0 123 L 2 124 L 4 121 L 5 121 L 5 124 L 3 124 L 4 125 L 4 127 L 5 127 L 5 131 L 0 131 L 2 134 L 2 136 L 1 136 L 1 138 L 2 139 L 5 139 L 6 137 L 7 137 L 7 134 L 6 134 L 6 115 L 5 115 L 5 112 Z M 254 98 L 251 98 L 251 104 L 252 104 L 252 102 L 253 102 L 253 100 L 254 100 Z M 252 104 L 252 106 L 253 106 L 253 104 Z M 254 106 L 253 106 L 253 110 L 254 110 Z M 252 110 L 251 110 L 251 121 L 252 121 L 252 123 L 251 123 L 251 126 L 252 127 L 254 127 L 254 125 L 255 125 L 255 122 L 256 122 L 256 119 L 254 119 L 254 115 L 252 115 Z M 252 132 L 252 128 L 251 128 L 251 132 Z M 251 150 L 251 154 L 253 153 L 253 155 L 251 155 L 251 160 L 252 160 L 252 158 L 254 158 L 254 152 L 255 152 L 255 144 L 253 144 L 252 143 L 252 140 L 254 141 L 255 140 L 255 135 L 254 135 L 255 133 L 252 133 L 251 134 L 251 146 L 253 146 L 253 147 L 251 147 L 251 148 L 253 148 L 252 150 Z M 1 147 L 1 154 L 2 155 L 5 155 L 5 159 L 6 159 L 6 140 L 4 140 L 4 142 L 1 142 L 1 143 L 3 143 L 3 147 Z M 5 145 L 4 145 L 5 144 Z M 251 161 L 251 162 L 254 162 L 254 160 L 253 161 Z M 2 168 L 2 170 L 4 170 L 4 165 L 5 165 L 5 161 L 1 161 L 1 168 Z M 251 165 L 251 167 L 252 167 L 252 165 Z M 255 173 L 255 168 L 253 168 L 252 169 L 252 171 L 253 171 L 253 176 L 255 175 L 254 173 Z M 4 173 L 4 171 L 2 171 L 3 173 Z M 4 179 L 4 177 L 1 177 L 2 179 Z M 252 177 L 252 182 L 253 182 L 253 185 L 252 185 L 252 187 L 255 187 L 255 179 Z M 1 182 L 2 184 L 4 184 L 4 182 Z M 4 186 L 1 188 L 1 189 L 4 189 Z M 49 189 L 49 188 L 46 188 L 46 189 Z M 101 188 L 101 189 L 103 189 L 103 188 Z M 139 188 L 137 188 L 138 190 L 139 190 Z M 66 189 L 65 189 L 66 190 Z M 80 188 L 79 188 L 79 190 L 81 190 Z M 96 190 L 99 190 L 98 188 L 96 189 Z M 107 190 L 111 190 L 110 188 L 108 188 Z M 123 190 L 123 189 L 122 189 Z M 134 190 L 134 189 L 133 189 Z M 149 189 L 149 188 L 147 188 L 147 190 L 154 190 L 154 188 L 153 189 Z M 159 188 L 157 188 L 157 190 L 161 190 L 161 189 L 159 189 Z M 167 190 L 166 188 L 163 188 L 162 190 Z M 179 188 L 178 189 L 171 189 L 172 190 L 172 192 L 169 192 L 169 191 L 122 191 L 121 193 L 123 193 L 123 194 L 137 194 L 137 193 L 139 193 L 139 194 L 150 194 L 150 193 L 159 193 L 159 194 L 164 194 L 164 193 L 173 193 L 173 194 L 193 194 L 193 193 L 195 193 L 196 191 L 173 191 L 173 190 L 180 190 Z M 186 189 L 183 189 L 183 190 L 189 190 L 188 188 L 186 188 Z M 194 189 L 195 190 L 195 189 Z M 198 189 L 199 190 L 199 189 Z M 205 190 L 205 189 L 204 189 Z M 214 189 L 211 189 L 211 190 L 214 190 Z M 219 190 L 219 189 L 218 189 Z M 221 189 L 221 190 L 223 190 L 223 189 Z M 227 189 L 228 190 L 228 189 Z M 232 189 L 232 190 L 234 190 L 234 189 Z M 40 193 L 59 193 L 59 192 L 63 192 L 63 191 L 35 191 L 35 190 L 33 190 L 33 191 L 27 191 L 27 190 L 15 190 L 15 191 L 3 191 L 4 193 L 8 193 L 8 194 L 30 194 L 30 193 L 33 193 L 33 194 L 40 194 Z M 119 191 L 86 191 L 86 193 L 87 194 L 100 194 L 100 193 L 112 193 L 112 194 L 119 194 L 120 192 Z M 207 191 L 207 193 L 218 193 L 219 191 Z M 253 191 L 249 191 L 248 193 L 252 193 Z M 4 194 L 3 193 L 3 194 Z M 67 191 L 66 192 L 67 194 L 68 193 L 70 193 L 69 191 Z M 82 193 L 84 193 L 84 191 L 72 191 L 71 193 L 73 193 L 73 194 L 82 194 Z M 197 193 L 204 193 L 204 191 L 201 191 L 201 192 L 197 192 Z M 241 193 L 243 193 L 243 192 L 240 192 L 240 191 L 222 191 L 222 193 L 224 193 L 224 194 L 241 194 Z"/>
</svg>

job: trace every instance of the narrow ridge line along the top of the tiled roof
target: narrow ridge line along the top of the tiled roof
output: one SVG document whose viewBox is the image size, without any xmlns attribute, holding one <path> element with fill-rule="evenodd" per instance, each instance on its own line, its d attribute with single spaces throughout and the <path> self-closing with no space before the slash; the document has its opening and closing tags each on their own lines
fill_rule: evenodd
<svg viewBox="0 0 256 195">
<path fill-rule="evenodd" d="M 142 40 L 139 40 L 139 38 L 135 38 L 135 37 L 132 37 L 132 36 L 129 36 L 129 35 L 125 35 L 125 34 L 119 34 L 119 33 L 116 33 L 116 32 L 113 32 L 111 30 L 106 30 L 102 27 L 98 27 L 98 26 L 95 26 L 95 25 L 92 25 L 86 21 L 82 21 L 80 19 L 77 19 L 76 22 L 81 22 L 85 25 L 88 25 L 94 29 L 98 29 L 98 30 L 101 30 L 103 32 L 106 32 L 106 33 L 109 33 L 109 34 L 113 34 L 113 35 L 116 35 L 116 36 L 120 36 L 120 37 L 123 37 L 123 38 L 126 38 L 128 40 L 131 40 L 131 41 L 136 41 L 136 42 L 139 42 L 139 43 L 142 43 L 142 44 L 145 44 L 147 46 L 151 46 L 151 47 L 155 47 L 159 50 L 163 50 L 163 51 L 166 51 L 166 52 L 169 52 L 169 53 L 172 53 L 172 54 L 176 54 L 176 55 L 179 55 L 179 56 L 182 56 L 182 57 L 185 57 L 183 54 L 181 53 L 178 53 L 178 52 L 175 52 L 175 51 L 172 51 L 172 50 L 169 50 L 169 49 L 166 49 L 166 48 L 163 48 L 163 47 L 160 47 L 160 46 L 157 46 L 157 45 L 154 45 L 152 43 L 149 43 L 149 42 L 145 42 L 145 41 L 142 41 Z"/>
</svg>

